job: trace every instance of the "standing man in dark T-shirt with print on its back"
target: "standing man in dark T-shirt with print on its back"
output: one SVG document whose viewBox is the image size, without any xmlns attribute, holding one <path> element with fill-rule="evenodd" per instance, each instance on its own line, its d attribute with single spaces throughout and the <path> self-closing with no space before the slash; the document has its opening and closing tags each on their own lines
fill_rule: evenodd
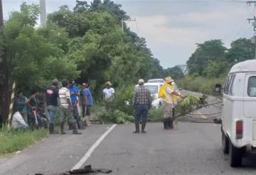
<svg viewBox="0 0 256 175">
<path fill-rule="evenodd" d="M 49 117 L 50 134 L 58 134 L 54 131 L 54 120 L 58 109 L 58 79 L 53 79 L 52 86 L 46 89 L 46 106 Z"/>
</svg>

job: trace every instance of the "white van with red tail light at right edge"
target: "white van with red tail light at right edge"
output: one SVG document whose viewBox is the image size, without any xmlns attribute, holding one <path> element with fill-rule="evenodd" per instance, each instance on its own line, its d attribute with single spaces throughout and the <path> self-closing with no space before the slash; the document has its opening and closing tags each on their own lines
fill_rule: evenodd
<svg viewBox="0 0 256 175">
<path fill-rule="evenodd" d="M 256 60 L 230 69 L 221 120 L 223 152 L 230 154 L 230 166 L 241 166 L 245 153 L 256 153 Z"/>
</svg>

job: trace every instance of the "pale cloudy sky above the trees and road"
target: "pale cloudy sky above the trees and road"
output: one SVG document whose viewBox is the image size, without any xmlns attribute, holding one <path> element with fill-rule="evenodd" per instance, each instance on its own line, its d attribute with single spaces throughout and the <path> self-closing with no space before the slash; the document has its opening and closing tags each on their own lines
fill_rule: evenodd
<svg viewBox="0 0 256 175">
<path fill-rule="evenodd" d="M 4 18 L 17 11 L 22 0 L 2 0 Z M 39 3 L 39 0 L 23 0 Z M 128 26 L 147 45 L 161 66 L 173 67 L 186 64 L 196 49 L 196 43 L 221 39 L 226 47 L 238 38 L 254 35 L 246 20 L 256 13 L 256 6 L 248 6 L 243 0 L 114 0 L 135 21 Z M 75 0 L 46 0 L 46 11 L 58 10 L 67 4 L 70 9 Z"/>
</svg>

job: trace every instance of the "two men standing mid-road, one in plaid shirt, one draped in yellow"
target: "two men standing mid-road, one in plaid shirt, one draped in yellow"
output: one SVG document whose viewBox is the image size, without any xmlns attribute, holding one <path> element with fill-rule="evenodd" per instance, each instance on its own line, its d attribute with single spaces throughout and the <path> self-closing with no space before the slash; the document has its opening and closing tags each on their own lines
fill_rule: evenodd
<svg viewBox="0 0 256 175">
<path fill-rule="evenodd" d="M 159 98 L 164 98 L 163 102 L 163 123 L 164 129 L 174 129 L 174 107 L 176 106 L 178 98 L 185 98 L 180 92 L 176 91 L 174 79 L 166 77 L 164 85 L 159 91 Z M 144 79 L 139 79 L 139 86 L 134 91 L 133 105 L 135 108 L 135 131 L 139 133 L 139 123 L 142 123 L 141 132 L 145 133 L 146 121 L 148 119 L 148 111 L 151 108 L 150 91 L 144 86 Z"/>
</svg>

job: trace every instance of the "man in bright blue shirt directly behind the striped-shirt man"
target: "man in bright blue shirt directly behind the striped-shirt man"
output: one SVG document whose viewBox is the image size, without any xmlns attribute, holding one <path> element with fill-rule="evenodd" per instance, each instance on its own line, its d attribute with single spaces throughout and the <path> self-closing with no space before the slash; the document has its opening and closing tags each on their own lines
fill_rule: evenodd
<svg viewBox="0 0 256 175">
<path fill-rule="evenodd" d="M 71 98 L 71 103 L 72 103 L 72 108 L 73 108 L 73 115 L 74 118 L 78 124 L 78 129 L 81 129 L 81 119 L 80 119 L 80 112 L 79 112 L 79 89 L 78 86 L 75 86 L 75 81 L 69 81 L 69 87 L 68 90 L 70 91 L 70 98 Z"/>
</svg>

